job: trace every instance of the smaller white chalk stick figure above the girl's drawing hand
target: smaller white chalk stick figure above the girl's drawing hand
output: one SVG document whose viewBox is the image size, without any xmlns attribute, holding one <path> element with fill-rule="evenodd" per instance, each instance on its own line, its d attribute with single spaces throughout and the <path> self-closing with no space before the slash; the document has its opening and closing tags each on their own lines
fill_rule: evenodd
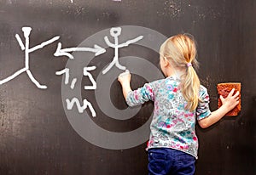
<svg viewBox="0 0 256 175">
<path fill-rule="evenodd" d="M 103 74 L 106 74 L 112 67 L 115 65 L 120 70 L 125 70 L 126 67 L 119 64 L 119 48 L 127 47 L 129 44 L 138 42 L 139 40 L 143 39 L 143 36 L 136 37 L 134 39 L 128 40 L 125 43 L 119 44 L 119 35 L 121 34 L 121 27 L 113 27 L 110 29 L 110 35 L 114 39 L 114 43 L 109 42 L 108 37 L 104 37 L 105 42 L 108 44 L 109 47 L 114 48 L 114 57 L 112 62 L 108 65 L 106 69 L 102 71 Z"/>
</svg>

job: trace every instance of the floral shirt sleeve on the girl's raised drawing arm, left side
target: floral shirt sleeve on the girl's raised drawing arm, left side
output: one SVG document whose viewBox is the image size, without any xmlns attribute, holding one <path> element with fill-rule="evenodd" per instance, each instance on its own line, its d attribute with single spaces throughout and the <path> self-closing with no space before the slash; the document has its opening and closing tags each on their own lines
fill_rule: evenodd
<svg viewBox="0 0 256 175">
<path fill-rule="evenodd" d="M 154 90 L 152 83 L 146 83 L 143 88 L 138 88 L 137 90 L 131 91 L 126 97 L 126 103 L 129 106 L 136 106 L 143 104 L 148 100 L 154 101 Z"/>
</svg>

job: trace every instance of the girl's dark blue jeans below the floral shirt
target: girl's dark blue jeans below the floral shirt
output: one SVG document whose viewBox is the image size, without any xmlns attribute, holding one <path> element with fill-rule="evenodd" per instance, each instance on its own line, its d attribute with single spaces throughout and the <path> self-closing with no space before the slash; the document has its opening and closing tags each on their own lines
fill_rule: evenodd
<svg viewBox="0 0 256 175">
<path fill-rule="evenodd" d="M 193 175 L 194 173 L 193 155 L 168 148 L 148 150 L 148 175 Z"/>
</svg>

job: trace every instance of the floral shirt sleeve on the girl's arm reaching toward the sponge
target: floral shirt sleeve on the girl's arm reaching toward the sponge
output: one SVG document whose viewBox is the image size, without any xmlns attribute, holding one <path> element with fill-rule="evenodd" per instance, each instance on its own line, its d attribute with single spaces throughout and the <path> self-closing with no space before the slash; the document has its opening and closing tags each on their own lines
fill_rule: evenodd
<svg viewBox="0 0 256 175">
<path fill-rule="evenodd" d="M 210 98 L 207 93 L 207 88 L 201 86 L 199 98 L 200 99 L 196 109 L 196 116 L 198 121 L 211 115 L 211 110 L 209 108 Z"/>
</svg>

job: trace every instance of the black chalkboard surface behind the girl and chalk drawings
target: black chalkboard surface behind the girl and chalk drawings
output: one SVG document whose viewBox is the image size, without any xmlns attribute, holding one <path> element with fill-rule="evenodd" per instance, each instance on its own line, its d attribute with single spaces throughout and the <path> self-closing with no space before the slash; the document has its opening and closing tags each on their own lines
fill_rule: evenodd
<svg viewBox="0 0 256 175">
<path fill-rule="evenodd" d="M 212 110 L 219 82 L 241 82 L 240 115 L 196 128 L 195 174 L 255 174 L 255 15 L 253 0 L 0 1 L 0 174 L 148 174 L 154 106 L 128 109 L 116 78 L 163 77 L 177 33 L 197 41 Z"/>
</svg>

